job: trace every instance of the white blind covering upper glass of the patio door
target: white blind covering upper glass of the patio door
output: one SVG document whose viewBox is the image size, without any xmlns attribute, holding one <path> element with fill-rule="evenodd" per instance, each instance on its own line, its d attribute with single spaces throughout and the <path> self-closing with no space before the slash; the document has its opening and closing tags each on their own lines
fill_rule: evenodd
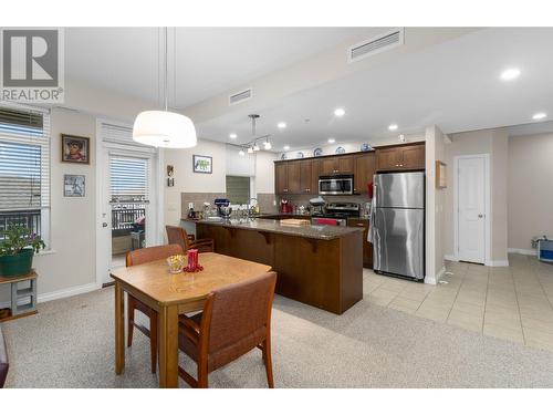
<svg viewBox="0 0 553 415">
<path fill-rule="evenodd" d="M 111 200 L 148 200 L 148 170 L 146 158 L 109 156 Z"/>
</svg>

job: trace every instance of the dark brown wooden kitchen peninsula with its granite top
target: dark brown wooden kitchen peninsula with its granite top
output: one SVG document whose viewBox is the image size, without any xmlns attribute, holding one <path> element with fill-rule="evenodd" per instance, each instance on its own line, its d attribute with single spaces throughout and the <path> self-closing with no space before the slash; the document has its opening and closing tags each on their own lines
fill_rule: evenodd
<svg viewBox="0 0 553 415">
<path fill-rule="evenodd" d="M 218 253 L 269 264 L 276 293 L 342 314 L 363 298 L 363 229 L 271 219 L 196 221 Z"/>
</svg>

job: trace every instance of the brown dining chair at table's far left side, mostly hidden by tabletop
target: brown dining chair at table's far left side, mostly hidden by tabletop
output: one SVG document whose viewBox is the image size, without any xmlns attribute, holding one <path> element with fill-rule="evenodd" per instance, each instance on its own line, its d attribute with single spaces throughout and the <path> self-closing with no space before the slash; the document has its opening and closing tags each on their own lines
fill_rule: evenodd
<svg viewBox="0 0 553 415">
<path fill-rule="evenodd" d="M 127 252 L 126 266 L 139 266 L 140 263 L 157 261 L 166 259 L 173 255 L 184 255 L 180 245 L 164 245 L 159 247 L 142 248 Z M 135 321 L 135 310 L 140 311 L 149 319 L 149 329 Z M 128 294 L 127 297 L 127 347 L 133 345 L 134 328 L 142 331 L 149 338 L 150 357 L 152 357 L 152 373 L 156 373 L 157 363 L 157 311 L 150 309 L 140 300 Z"/>
</svg>

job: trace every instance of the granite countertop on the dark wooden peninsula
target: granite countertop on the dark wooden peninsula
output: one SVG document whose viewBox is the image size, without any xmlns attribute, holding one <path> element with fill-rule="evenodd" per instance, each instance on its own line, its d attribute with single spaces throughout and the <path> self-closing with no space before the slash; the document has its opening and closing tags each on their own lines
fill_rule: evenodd
<svg viewBox="0 0 553 415">
<path fill-rule="evenodd" d="M 336 239 L 354 232 L 362 232 L 363 228 L 353 228 L 345 226 L 286 226 L 281 225 L 279 220 L 272 219 L 228 219 L 228 220 L 195 220 L 197 224 L 212 226 L 223 226 L 227 228 L 251 229 L 258 231 L 283 234 L 313 239 Z"/>
</svg>

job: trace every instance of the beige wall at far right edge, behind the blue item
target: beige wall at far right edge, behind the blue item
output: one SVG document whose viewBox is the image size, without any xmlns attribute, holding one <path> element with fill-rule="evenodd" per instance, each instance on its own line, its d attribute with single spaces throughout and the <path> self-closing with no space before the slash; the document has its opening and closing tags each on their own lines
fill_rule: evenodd
<svg viewBox="0 0 553 415">
<path fill-rule="evenodd" d="M 509 138 L 509 248 L 530 251 L 553 236 L 553 133 Z"/>
</svg>

